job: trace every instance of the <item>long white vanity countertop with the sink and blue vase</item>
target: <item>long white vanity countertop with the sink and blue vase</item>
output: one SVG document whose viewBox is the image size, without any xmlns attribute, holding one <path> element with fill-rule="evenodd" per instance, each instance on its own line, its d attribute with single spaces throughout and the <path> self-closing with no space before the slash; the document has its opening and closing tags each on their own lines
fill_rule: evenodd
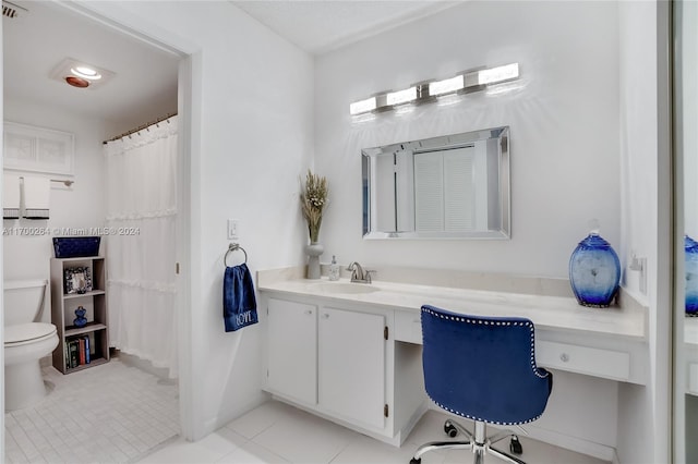
<svg viewBox="0 0 698 464">
<path fill-rule="evenodd" d="M 326 278 L 261 279 L 257 288 L 288 295 L 312 296 L 325 301 L 366 303 L 374 306 L 419 312 L 430 304 L 455 313 L 481 316 L 520 316 L 533 321 L 538 330 L 569 331 L 594 335 L 614 335 L 635 341 L 647 340 L 647 308 L 628 307 L 590 308 L 580 306 L 575 298 L 541 296 L 483 290 L 454 289 L 435 285 L 416 285 L 375 281 L 371 293 L 339 293 L 330 285 L 366 285 L 349 283 L 347 279 L 329 282 Z"/>
</svg>

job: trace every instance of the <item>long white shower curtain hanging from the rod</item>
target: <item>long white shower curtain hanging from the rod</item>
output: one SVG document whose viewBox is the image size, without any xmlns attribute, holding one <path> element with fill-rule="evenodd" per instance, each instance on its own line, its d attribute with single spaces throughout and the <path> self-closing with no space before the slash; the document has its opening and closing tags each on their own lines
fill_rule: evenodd
<svg viewBox="0 0 698 464">
<path fill-rule="evenodd" d="M 105 146 L 109 342 L 178 375 L 177 117 Z"/>
</svg>

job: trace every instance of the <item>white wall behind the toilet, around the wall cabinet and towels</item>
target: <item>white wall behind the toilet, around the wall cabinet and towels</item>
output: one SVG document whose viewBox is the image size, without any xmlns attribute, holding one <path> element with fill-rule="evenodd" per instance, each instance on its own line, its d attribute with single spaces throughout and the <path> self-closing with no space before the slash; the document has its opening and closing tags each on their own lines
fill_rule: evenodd
<svg viewBox="0 0 698 464">
<path fill-rule="evenodd" d="M 53 229 L 89 229 L 104 225 L 106 202 L 103 188 L 105 172 L 101 154 L 104 122 L 94 118 L 70 114 L 57 108 L 17 101 L 10 96 L 4 99 L 4 118 L 8 121 L 69 132 L 75 136 L 75 175 L 72 178 L 75 183 L 70 188 L 58 183 L 51 185 L 50 219 L 3 220 L 3 228 L 9 233 L 3 236 L 4 278 L 8 280 L 49 279 L 49 259 L 53 256 L 51 237 L 60 235 L 60 233 L 53 233 Z M 50 176 L 69 179 L 58 174 Z M 24 228 L 49 228 L 51 233 L 31 236 L 21 232 Z M 50 300 L 47 300 L 43 317 L 47 322 L 51 320 L 49 302 Z"/>
</svg>

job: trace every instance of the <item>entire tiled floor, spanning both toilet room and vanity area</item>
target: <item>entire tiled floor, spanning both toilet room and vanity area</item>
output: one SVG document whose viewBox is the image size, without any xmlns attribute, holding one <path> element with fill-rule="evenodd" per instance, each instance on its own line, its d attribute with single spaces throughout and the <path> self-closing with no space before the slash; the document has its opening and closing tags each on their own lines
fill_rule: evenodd
<svg viewBox="0 0 698 464">
<path fill-rule="evenodd" d="M 51 394 L 35 407 L 5 414 L 8 464 L 407 464 L 420 444 L 444 439 L 445 415 L 435 411 L 395 448 L 269 401 L 191 443 L 178 436 L 174 382 L 118 358 L 68 376 L 53 368 L 44 374 L 53 386 Z M 529 463 L 603 464 L 527 438 L 521 442 L 521 459 Z M 422 464 L 470 462 L 470 451 L 422 456 Z M 501 464 L 491 455 L 486 462 Z"/>
</svg>

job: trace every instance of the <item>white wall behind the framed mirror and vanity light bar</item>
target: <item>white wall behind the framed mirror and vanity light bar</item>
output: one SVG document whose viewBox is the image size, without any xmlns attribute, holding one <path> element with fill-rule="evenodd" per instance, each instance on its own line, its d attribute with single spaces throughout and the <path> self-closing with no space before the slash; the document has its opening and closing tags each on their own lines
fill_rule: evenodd
<svg viewBox="0 0 698 464">
<path fill-rule="evenodd" d="M 614 2 L 529 1 L 464 2 L 318 57 L 315 166 L 330 195 L 324 258 L 567 277 L 593 218 L 617 249 L 617 60 Z M 521 78 L 500 87 L 507 91 L 349 117 L 350 102 L 376 91 L 510 62 Z M 512 129 L 510 241 L 362 241 L 361 148 L 498 125 Z"/>
</svg>

